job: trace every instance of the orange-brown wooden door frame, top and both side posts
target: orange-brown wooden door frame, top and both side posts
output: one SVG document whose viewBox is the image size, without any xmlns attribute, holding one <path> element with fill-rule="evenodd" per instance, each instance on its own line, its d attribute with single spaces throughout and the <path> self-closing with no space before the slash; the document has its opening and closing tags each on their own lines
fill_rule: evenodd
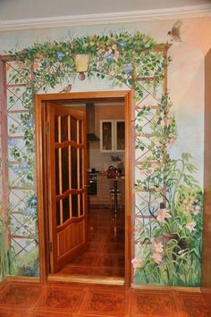
<svg viewBox="0 0 211 317">
<path fill-rule="evenodd" d="M 46 284 L 48 280 L 48 227 L 47 227 L 47 190 L 46 190 L 46 101 L 68 101 L 81 99 L 110 99 L 122 98 L 124 100 L 125 117 L 125 274 L 124 285 L 131 285 L 131 224 L 132 224 L 132 183 L 133 171 L 132 162 L 134 147 L 132 145 L 134 124 L 134 113 L 132 113 L 133 91 L 114 90 L 96 92 L 75 92 L 41 94 L 35 96 L 35 138 L 36 138 L 36 177 L 38 196 L 38 241 L 39 241 L 39 272 L 40 282 Z"/>
</svg>

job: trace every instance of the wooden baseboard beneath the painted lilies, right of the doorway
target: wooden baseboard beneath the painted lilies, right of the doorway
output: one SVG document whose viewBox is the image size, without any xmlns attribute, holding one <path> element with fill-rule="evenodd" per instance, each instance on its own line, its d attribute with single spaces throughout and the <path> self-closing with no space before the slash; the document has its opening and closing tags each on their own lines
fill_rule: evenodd
<svg viewBox="0 0 211 317">
<path fill-rule="evenodd" d="M 190 292 L 190 293 L 201 293 L 201 288 L 199 287 L 182 287 L 182 286 L 156 286 L 156 285 L 134 285 L 131 284 L 131 288 L 140 290 L 171 290 L 178 292 Z"/>
</svg>

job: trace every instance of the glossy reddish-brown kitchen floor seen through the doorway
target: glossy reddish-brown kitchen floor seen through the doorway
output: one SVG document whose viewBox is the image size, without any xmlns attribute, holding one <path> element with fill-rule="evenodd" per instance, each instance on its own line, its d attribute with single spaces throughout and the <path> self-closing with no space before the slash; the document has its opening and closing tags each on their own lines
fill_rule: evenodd
<svg viewBox="0 0 211 317">
<path fill-rule="evenodd" d="M 106 206 L 89 210 L 88 248 L 58 274 L 124 276 L 124 212 Z"/>
</svg>

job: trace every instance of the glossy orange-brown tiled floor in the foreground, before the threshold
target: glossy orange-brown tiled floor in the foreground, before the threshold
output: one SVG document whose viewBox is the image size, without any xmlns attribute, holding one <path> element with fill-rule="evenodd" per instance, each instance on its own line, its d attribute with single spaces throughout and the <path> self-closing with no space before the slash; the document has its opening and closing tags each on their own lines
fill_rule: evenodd
<svg viewBox="0 0 211 317">
<path fill-rule="evenodd" d="M 117 286 L 10 283 L 0 291 L 0 317 L 210 317 L 200 292 Z"/>
</svg>

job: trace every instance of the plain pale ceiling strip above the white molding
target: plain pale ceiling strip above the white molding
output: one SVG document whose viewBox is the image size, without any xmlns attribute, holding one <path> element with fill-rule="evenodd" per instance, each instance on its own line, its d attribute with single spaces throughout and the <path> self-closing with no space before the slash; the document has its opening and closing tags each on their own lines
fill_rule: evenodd
<svg viewBox="0 0 211 317">
<path fill-rule="evenodd" d="M 93 14 L 170 10 L 211 4 L 211 0 L 0 0 L 0 23 Z M 124 14 L 125 15 L 125 14 Z"/>
</svg>

